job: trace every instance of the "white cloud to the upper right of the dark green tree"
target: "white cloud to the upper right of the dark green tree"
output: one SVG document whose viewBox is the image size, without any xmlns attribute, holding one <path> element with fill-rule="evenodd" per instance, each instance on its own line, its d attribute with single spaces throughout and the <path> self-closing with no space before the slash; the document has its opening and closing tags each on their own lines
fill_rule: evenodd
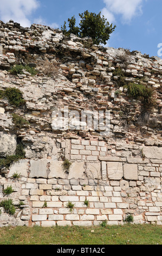
<svg viewBox="0 0 162 256">
<path fill-rule="evenodd" d="M 102 9 L 101 13 L 108 20 L 109 23 L 115 21 L 115 15 L 121 15 L 123 23 L 129 23 L 134 16 L 142 14 L 142 3 L 146 0 L 103 0 L 106 7 Z"/>
</svg>

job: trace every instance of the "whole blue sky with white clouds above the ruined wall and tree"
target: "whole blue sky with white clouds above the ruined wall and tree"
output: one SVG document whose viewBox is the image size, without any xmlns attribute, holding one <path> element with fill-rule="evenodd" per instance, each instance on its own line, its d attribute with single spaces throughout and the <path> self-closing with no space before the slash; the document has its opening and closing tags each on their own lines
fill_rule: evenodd
<svg viewBox="0 0 162 256">
<path fill-rule="evenodd" d="M 116 25 L 107 46 L 158 56 L 158 44 L 162 43 L 161 0 L 1 0 L 0 20 L 12 19 L 24 27 L 38 23 L 61 28 L 73 15 L 79 25 L 79 13 L 85 10 L 101 11 L 109 23 Z"/>
</svg>

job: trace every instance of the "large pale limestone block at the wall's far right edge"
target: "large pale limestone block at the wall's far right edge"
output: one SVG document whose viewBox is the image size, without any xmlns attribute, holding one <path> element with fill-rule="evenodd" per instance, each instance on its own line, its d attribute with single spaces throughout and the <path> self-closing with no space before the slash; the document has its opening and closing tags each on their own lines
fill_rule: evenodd
<svg viewBox="0 0 162 256">
<path fill-rule="evenodd" d="M 162 147 L 144 147 L 143 154 L 148 159 L 162 159 Z"/>
</svg>

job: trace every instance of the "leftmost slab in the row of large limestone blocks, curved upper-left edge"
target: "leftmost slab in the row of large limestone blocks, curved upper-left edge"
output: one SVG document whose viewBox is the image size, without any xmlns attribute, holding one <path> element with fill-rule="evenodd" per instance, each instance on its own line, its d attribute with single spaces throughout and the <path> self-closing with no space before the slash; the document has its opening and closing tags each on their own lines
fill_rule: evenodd
<svg viewBox="0 0 162 256">
<path fill-rule="evenodd" d="M 18 173 L 23 177 L 28 177 L 28 161 L 29 160 L 27 159 L 23 159 L 12 164 L 8 177 L 10 178 L 15 173 Z"/>
</svg>

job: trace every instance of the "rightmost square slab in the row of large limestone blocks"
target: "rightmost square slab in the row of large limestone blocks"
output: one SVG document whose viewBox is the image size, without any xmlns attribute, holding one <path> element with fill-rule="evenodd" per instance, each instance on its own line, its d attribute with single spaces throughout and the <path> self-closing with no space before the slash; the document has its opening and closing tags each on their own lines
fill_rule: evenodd
<svg viewBox="0 0 162 256">
<path fill-rule="evenodd" d="M 138 165 L 124 164 L 124 178 L 126 180 L 138 180 Z"/>
</svg>

